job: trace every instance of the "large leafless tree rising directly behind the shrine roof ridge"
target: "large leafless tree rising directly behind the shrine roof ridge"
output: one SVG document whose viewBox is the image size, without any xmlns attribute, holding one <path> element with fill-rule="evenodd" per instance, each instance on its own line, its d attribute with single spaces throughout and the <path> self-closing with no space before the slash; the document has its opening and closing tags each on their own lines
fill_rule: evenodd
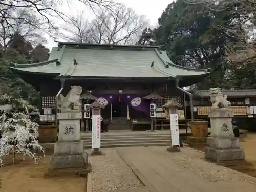
<svg viewBox="0 0 256 192">
<path fill-rule="evenodd" d="M 95 15 L 92 22 L 88 22 L 83 12 L 72 18 L 70 25 L 64 28 L 67 32 L 64 38 L 96 44 L 135 44 L 147 25 L 144 16 L 121 4 L 97 9 Z"/>
</svg>

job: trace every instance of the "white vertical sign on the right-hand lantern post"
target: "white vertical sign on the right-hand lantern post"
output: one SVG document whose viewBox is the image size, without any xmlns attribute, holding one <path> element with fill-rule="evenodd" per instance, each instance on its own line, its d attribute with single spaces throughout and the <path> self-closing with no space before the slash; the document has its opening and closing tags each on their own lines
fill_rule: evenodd
<svg viewBox="0 0 256 192">
<path fill-rule="evenodd" d="M 170 138 L 172 146 L 180 146 L 178 114 L 170 114 Z"/>
</svg>

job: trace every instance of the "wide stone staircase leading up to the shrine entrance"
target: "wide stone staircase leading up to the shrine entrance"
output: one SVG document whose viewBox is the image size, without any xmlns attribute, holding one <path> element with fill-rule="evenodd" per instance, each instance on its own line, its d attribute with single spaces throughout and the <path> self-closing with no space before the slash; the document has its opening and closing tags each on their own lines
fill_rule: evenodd
<svg viewBox="0 0 256 192">
<path fill-rule="evenodd" d="M 81 139 L 84 148 L 92 147 L 92 136 L 82 133 Z M 119 131 L 101 133 L 101 148 L 125 147 L 125 146 L 168 146 L 170 144 L 169 131 Z"/>
</svg>

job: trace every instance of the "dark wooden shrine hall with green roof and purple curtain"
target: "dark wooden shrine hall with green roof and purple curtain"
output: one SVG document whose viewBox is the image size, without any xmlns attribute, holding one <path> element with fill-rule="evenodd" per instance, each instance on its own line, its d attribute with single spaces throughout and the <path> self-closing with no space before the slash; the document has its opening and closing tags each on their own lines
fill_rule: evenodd
<svg viewBox="0 0 256 192">
<path fill-rule="evenodd" d="M 66 96 L 76 85 L 83 89 L 82 106 L 95 100 L 105 106 L 101 115 L 108 120 L 109 130 L 129 130 L 131 121 L 145 122 L 145 129 L 149 129 L 146 122 L 150 122 L 150 103 L 156 104 L 156 119 L 161 120 L 165 119 L 162 106 L 170 99 L 184 106 L 184 98 L 188 98 L 190 104 L 181 109 L 179 118 L 193 118 L 189 102 L 192 95 L 183 87 L 198 83 L 211 73 L 209 69 L 175 65 L 159 46 L 72 42 L 58 42 L 47 61 L 11 63 L 10 68 L 40 91 L 41 122 L 55 122 L 56 96 Z M 90 130 L 90 118 L 83 119 L 81 125 L 82 131 Z"/>
</svg>

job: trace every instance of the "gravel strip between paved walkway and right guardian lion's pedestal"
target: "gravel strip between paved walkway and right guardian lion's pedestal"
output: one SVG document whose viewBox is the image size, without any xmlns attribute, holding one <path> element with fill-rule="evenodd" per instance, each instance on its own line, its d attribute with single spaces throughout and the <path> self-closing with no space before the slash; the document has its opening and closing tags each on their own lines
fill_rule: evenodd
<svg viewBox="0 0 256 192">
<path fill-rule="evenodd" d="M 151 150 L 159 156 L 169 158 L 170 163 L 175 163 L 191 172 L 207 179 L 210 182 L 249 182 L 256 185 L 256 178 L 252 178 L 224 166 L 216 165 L 204 160 L 204 154 L 191 148 L 182 148 L 181 153 L 170 154 L 166 147 L 151 147 Z"/>
</svg>

